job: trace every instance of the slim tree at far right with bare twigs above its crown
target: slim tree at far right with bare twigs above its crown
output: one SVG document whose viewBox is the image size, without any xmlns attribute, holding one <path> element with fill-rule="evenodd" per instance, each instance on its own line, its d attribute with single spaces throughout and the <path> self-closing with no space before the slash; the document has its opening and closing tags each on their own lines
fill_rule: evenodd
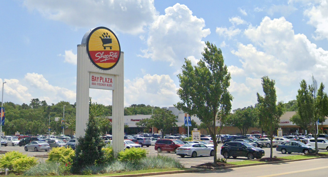
<svg viewBox="0 0 328 177">
<path fill-rule="evenodd" d="M 318 89 L 317 80 L 313 75 L 311 78 L 311 85 L 307 85 L 305 80 L 300 83 L 300 89 L 298 89 L 296 96 L 297 113 L 302 122 L 307 122 L 309 130 L 315 138 L 316 154 L 318 154 L 317 124 L 327 114 L 328 98 L 327 94 L 323 92 L 323 83 L 321 82 Z"/>
</svg>

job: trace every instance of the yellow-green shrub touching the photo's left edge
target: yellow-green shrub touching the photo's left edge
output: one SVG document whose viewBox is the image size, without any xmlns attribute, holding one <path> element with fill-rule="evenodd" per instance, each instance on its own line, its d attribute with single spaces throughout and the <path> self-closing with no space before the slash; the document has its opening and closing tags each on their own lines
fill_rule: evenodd
<svg viewBox="0 0 328 177">
<path fill-rule="evenodd" d="M 9 170 L 12 170 L 14 161 L 24 157 L 27 157 L 27 155 L 24 155 L 18 151 L 7 152 L 0 158 L 0 168 L 8 168 Z"/>
</svg>

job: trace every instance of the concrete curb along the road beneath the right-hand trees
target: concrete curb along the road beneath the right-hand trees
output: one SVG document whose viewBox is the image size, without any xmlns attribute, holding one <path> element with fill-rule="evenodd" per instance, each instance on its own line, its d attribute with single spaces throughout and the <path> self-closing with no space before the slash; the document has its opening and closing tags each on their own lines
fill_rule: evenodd
<svg viewBox="0 0 328 177">
<path fill-rule="evenodd" d="M 243 167 L 243 166 L 256 166 L 256 165 L 267 165 L 267 164 L 280 164 L 280 163 L 286 163 L 286 162 L 296 162 L 296 161 L 312 160 L 312 159 L 322 159 L 322 158 L 328 158 L 328 156 L 312 157 L 312 158 L 307 158 L 307 159 L 284 160 L 284 161 L 276 161 L 276 162 L 263 162 L 263 163 L 245 164 L 245 165 L 231 165 L 231 166 L 219 166 L 219 167 L 208 167 L 208 166 L 191 166 L 191 167 L 192 167 L 192 168 L 202 168 L 202 169 L 213 169 L 213 170 L 219 170 L 219 169 L 237 168 L 237 167 Z"/>
</svg>

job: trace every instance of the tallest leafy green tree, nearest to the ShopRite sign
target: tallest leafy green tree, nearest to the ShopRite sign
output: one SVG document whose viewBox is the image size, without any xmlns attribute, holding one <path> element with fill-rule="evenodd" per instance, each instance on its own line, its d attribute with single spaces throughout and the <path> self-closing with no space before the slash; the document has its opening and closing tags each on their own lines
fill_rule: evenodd
<svg viewBox="0 0 328 177">
<path fill-rule="evenodd" d="M 228 91 L 231 76 L 221 49 L 207 42 L 202 55 L 194 67 L 190 60 L 185 59 L 182 73 L 178 75 L 180 88 L 177 95 L 181 101 L 176 107 L 197 116 L 206 125 L 214 143 L 216 163 L 216 122 L 220 123 L 220 134 L 231 110 L 233 97 Z"/>
</svg>

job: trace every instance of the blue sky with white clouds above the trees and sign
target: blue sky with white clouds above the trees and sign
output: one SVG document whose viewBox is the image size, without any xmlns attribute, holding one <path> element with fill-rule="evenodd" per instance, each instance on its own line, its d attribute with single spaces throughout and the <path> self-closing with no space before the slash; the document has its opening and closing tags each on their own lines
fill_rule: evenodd
<svg viewBox="0 0 328 177">
<path fill-rule="evenodd" d="M 232 75 L 233 109 L 254 105 L 261 80 L 294 100 L 302 79 L 328 83 L 328 1 L 0 1 L 4 101 L 76 101 L 76 51 L 89 29 L 105 26 L 124 52 L 125 106 L 172 106 L 184 58 L 204 42 L 222 49 Z M 2 89 L 2 88 L 0 88 Z M 90 90 L 112 104 L 111 91 Z"/>
</svg>

